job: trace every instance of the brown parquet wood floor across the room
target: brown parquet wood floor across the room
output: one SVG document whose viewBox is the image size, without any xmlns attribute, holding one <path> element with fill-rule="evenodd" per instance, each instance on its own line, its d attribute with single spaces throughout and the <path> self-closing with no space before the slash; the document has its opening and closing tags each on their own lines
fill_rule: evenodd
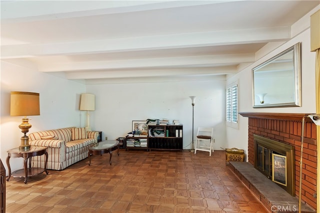
<svg viewBox="0 0 320 213">
<path fill-rule="evenodd" d="M 6 182 L 6 213 L 265 213 L 224 151 L 125 151 Z"/>
</svg>

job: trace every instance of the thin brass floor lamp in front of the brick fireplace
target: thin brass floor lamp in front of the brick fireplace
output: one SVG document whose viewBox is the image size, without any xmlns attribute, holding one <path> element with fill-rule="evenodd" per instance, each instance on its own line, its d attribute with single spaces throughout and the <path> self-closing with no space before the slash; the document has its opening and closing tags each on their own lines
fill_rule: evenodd
<svg viewBox="0 0 320 213">
<path fill-rule="evenodd" d="M 299 172 L 299 207 L 298 212 L 301 213 L 301 190 L 302 190 L 302 153 L 303 153 L 303 135 L 304 135 L 304 119 L 309 117 L 313 123 L 320 126 L 320 114 L 311 114 L 303 116 L 302 118 L 302 128 L 301 128 L 301 149 L 300 149 L 300 172 Z"/>
</svg>

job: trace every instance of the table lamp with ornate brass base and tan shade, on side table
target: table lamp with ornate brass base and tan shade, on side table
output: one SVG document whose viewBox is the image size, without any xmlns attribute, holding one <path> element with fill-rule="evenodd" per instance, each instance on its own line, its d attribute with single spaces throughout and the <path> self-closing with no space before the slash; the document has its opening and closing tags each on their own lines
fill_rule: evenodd
<svg viewBox="0 0 320 213">
<path fill-rule="evenodd" d="M 34 92 L 11 92 L 10 97 L 10 115 L 24 116 L 22 123 L 19 125 L 21 132 L 24 134 L 21 137 L 19 150 L 29 150 L 29 137 L 26 133 L 31 128 L 26 116 L 40 115 L 39 93 Z"/>
</svg>

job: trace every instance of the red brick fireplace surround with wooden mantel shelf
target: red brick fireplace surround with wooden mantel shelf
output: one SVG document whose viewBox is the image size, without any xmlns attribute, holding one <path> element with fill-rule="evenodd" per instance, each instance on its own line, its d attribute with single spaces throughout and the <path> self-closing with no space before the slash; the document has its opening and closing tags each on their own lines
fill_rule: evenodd
<svg viewBox="0 0 320 213">
<path fill-rule="evenodd" d="M 299 195 L 299 161 L 301 149 L 302 118 L 308 114 L 291 113 L 239 113 L 248 117 L 248 162 L 254 166 L 253 134 L 294 146 L 295 196 Z M 302 155 L 301 200 L 316 209 L 316 126 L 305 119 Z"/>
</svg>

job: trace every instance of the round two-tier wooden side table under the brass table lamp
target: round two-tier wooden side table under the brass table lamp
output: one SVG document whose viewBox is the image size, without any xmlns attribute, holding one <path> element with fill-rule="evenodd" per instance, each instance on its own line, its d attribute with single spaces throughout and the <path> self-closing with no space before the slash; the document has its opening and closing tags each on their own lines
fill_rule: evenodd
<svg viewBox="0 0 320 213">
<path fill-rule="evenodd" d="M 48 153 L 47 153 L 47 147 L 42 147 L 42 146 L 35 146 L 29 149 L 29 150 L 19 150 L 19 148 L 14 148 L 6 151 L 8 153 L 8 157 L 6 158 L 6 165 L 8 167 L 8 178 L 6 181 L 9 181 L 10 177 L 15 177 L 15 178 L 23 178 L 24 177 L 24 184 L 27 182 L 27 178 L 35 175 L 39 175 L 43 172 L 47 175 L 48 172 L 46 171 L 46 164 L 48 161 Z M 32 167 L 31 168 L 31 158 L 34 156 L 45 156 L 45 162 L 44 162 L 44 168 L 37 168 L 37 167 Z M 23 169 L 16 170 L 12 172 L 11 174 L 11 168 L 10 168 L 10 158 L 23 158 Z M 29 168 L 27 167 L 27 161 L 29 160 Z"/>
</svg>

